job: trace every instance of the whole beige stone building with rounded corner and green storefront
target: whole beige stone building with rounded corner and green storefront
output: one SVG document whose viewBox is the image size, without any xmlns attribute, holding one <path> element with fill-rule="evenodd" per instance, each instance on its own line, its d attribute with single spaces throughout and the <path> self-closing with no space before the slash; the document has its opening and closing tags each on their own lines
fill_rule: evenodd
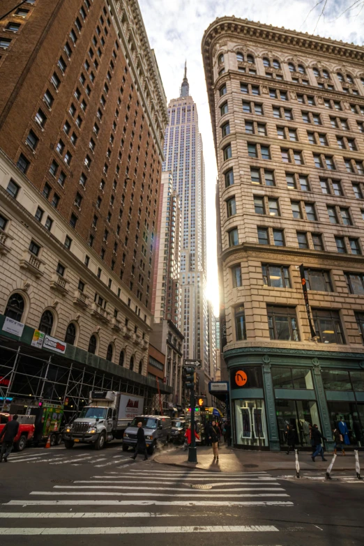
<svg viewBox="0 0 364 546">
<path fill-rule="evenodd" d="M 218 160 L 234 443 L 364 443 L 364 48 L 222 17 L 202 54 Z M 308 288 L 312 329 L 299 266 Z M 224 375 L 222 370 L 222 375 Z"/>
</svg>

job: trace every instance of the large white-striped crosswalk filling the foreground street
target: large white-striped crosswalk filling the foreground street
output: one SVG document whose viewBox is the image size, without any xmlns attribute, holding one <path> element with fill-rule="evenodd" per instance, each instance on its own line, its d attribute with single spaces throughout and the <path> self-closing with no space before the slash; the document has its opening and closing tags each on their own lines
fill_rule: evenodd
<svg viewBox="0 0 364 546">
<path fill-rule="evenodd" d="M 90 478 L 72 483 L 43 485 L 24 497 L 0 505 L 0 536 L 146 533 L 156 536 L 232 533 L 236 537 L 238 533 L 252 533 L 252 536 L 273 533 L 274 536 L 281 531 L 277 524 L 264 524 L 261 512 L 251 522 L 252 513 L 268 507 L 281 510 L 294 506 L 285 487 L 266 472 L 160 469 L 153 462 L 96 472 Z M 223 524 L 216 524 L 214 507 L 224 511 Z M 266 518 L 271 523 L 272 518 Z M 89 519 L 93 520 L 92 526 L 82 524 Z M 270 535 L 264 536 L 271 540 Z M 241 543 L 239 538 L 236 544 Z"/>
</svg>

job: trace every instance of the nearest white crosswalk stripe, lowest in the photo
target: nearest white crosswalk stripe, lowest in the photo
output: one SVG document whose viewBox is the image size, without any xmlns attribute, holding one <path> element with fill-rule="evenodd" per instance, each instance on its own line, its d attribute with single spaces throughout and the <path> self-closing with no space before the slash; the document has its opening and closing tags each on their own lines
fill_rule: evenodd
<svg viewBox="0 0 364 546">
<path fill-rule="evenodd" d="M 273 525 L 204 525 L 145 527 L 14 527 L 0 528 L 0 535 L 139 535 L 156 533 L 264 533 L 278 531 Z"/>
</svg>

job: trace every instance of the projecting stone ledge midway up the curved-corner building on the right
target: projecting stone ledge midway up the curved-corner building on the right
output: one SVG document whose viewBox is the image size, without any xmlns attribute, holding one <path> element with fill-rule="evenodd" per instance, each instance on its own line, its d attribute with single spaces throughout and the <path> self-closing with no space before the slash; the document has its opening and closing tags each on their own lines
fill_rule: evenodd
<svg viewBox="0 0 364 546">
<path fill-rule="evenodd" d="M 356 256 L 349 254 L 339 254 L 338 252 L 320 252 L 319 250 L 310 250 L 310 249 L 301 249 L 296 247 L 284 247 L 284 246 L 273 246 L 273 245 L 259 245 L 254 243 L 241 243 L 241 245 L 236 245 L 229 247 L 226 250 L 223 250 L 219 255 L 219 258 L 225 262 L 227 259 L 234 254 L 245 254 L 248 257 L 257 257 L 259 259 L 277 259 L 277 256 L 282 257 L 282 259 L 288 260 L 291 257 L 295 257 L 297 261 L 303 260 L 304 258 L 320 258 L 320 264 L 324 266 L 335 266 L 336 264 L 342 267 L 342 263 L 351 262 L 351 265 L 363 266 L 364 265 L 364 256 Z M 289 261 L 290 263 L 290 261 Z M 347 266 L 349 267 L 349 266 Z"/>
</svg>

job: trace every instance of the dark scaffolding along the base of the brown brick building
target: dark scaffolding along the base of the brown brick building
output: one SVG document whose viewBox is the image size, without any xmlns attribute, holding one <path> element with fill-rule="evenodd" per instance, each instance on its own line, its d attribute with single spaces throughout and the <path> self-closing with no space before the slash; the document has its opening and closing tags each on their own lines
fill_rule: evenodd
<svg viewBox="0 0 364 546">
<path fill-rule="evenodd" d="M 158 411 L 157 389 L 58 355 L 31 353 L 22 344 L 0 344 L 0 411 L 16 405 L 25 413 L 40 401 L 63 404 L 66 424 L 89 402 L 91 390 L 139 395 L 144 397 L 144 414 Z"/>
</svg>

